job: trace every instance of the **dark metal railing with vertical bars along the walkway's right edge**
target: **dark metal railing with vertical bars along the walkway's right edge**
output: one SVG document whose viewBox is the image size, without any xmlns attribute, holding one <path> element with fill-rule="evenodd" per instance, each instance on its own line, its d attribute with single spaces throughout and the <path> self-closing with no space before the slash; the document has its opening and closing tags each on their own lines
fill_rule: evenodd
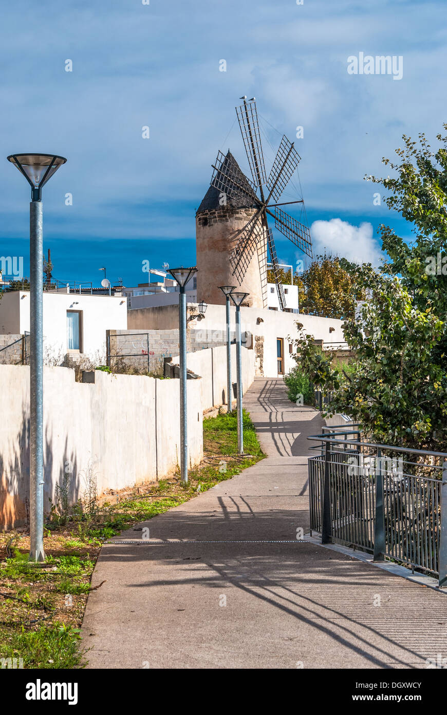
<svg viewBox="0 0 447 715">
<path fill-rule="evenodd" d="M 374 561 L 390 558 L 447 586 L 447 453 L 328 429 L 308 437 L 320 450 L 308 460 L 311 531 L 321 533 L 321 543 L 363 549 Z"/>
</svg>

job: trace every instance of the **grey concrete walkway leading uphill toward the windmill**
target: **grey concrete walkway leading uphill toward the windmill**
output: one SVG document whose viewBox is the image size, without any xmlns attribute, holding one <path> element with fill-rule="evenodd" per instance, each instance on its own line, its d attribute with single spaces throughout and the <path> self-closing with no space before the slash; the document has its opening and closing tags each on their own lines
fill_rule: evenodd
<svg viewBox="0 0 447 715">
<path fill-rule="evenodd" d="M 102 548 L 83 623 L 90 668 L 424 668 L 447 656 L 447 598 L 296 541 L 308 531 L 315 410 L 282 380 L 244 404 L 268 458 Z M 179 541 L 181 540 L 181 541 Z M 381 605 L 374 605 L 374 603 Z"/>
</svg>

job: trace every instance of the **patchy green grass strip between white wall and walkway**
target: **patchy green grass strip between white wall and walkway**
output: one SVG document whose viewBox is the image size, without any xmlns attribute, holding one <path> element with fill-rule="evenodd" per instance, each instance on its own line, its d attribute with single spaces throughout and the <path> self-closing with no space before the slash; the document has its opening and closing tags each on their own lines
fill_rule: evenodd
<svg viewBox="0 0 447 715">
<path fill-rule="evenodd" d="M 28 562 L 29 535 L 0 533 L 0 658 L 21 658 L 24 668 L 76 669 L 85 664 L 79 628 L 91 574 L 106 539 L 169 511 L 255 464 L 265 455 L 243 413 L 245 454 L 237 454 L 236 412 L 204 420 L 204 461 L 156 483 L 110 492 L 101 506 L 79 505 L 46 523 L 44 566 Z M 13 555 L 11 556 L 11 551 Z"/>
</svg>

